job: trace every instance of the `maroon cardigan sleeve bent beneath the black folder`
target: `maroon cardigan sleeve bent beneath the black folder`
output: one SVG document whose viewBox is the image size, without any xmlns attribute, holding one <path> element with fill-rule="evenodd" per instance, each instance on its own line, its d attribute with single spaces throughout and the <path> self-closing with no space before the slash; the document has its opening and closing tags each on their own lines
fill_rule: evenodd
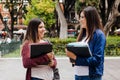
<svg viewBox="0 0 120 80">
<path fill-rule="evenodd" d="M 49 57 L 47 55 L 43 55 L 43 56 L 31 59 L 29 49 L 30 49 L 29 43 L 25 43 L 22 46 L 22 50 L 21 50 L 23 66 L 25 68 L 31 68 L 40 64 L 48 64 L 50 62 Z"/>
</svg>

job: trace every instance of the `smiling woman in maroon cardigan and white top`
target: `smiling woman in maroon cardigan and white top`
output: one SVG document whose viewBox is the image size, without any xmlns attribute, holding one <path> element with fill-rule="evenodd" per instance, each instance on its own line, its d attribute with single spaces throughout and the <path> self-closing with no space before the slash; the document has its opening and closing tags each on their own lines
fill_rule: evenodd
<svg viewBox="0 0 120 80">
<path fill-rule="evenodd" d="M 53 80 L 53 68 L 56 59 L 53 52 L 36 58 L 30 58 L 30 44 L 44 43 L 45 25 L 41 19 L 32 19 L 27 27 L 21 56 L 24 68 L 27 68 L 26 80 Z"/>
</svg>

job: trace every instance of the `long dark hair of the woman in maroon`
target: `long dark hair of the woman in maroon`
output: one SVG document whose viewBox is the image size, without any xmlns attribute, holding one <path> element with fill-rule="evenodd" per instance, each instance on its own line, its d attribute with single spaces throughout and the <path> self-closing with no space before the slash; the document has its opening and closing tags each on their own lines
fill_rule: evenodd
<svg viewBox="0 0 120 80">
<path fill-rule="evenodd" d="M 27 27 L 27 32 L 25 35 L 24 40 L 29 40 L 31 42 L 37 42 L 39 40 L 38 37 L 38 26 L 42 23 L 43 21 L 38 18 L 34 18 L 30 20 L 28 27 Z"/>
</svg>

